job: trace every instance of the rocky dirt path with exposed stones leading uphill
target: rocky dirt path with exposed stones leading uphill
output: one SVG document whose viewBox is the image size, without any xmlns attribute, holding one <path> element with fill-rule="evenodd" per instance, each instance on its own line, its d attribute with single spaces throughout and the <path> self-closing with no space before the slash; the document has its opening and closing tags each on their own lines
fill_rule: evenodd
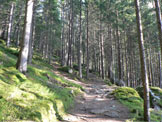
<svg viewBox="0 0 162 122">
<path fill-rule="evenodd" d="M 87 82 L 72 80 L 66 73 L 55 70 L 57 75 L 82 85 L 85 92 L 75 99 L 74 107 L 62 122 L 125 122 L 129 110 L 110 94 L 115 87 L 107 86 L 102 79 L 90 74 Z"/>
</svg>

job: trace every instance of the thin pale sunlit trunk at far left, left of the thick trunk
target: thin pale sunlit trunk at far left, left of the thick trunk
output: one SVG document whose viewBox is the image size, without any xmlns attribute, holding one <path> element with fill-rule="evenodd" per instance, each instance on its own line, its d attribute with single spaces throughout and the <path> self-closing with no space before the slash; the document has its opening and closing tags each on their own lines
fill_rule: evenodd
<svg viewBox="0 0 162 122">
<path fill-rule="evenodd" d="M 13 12 L 14 12 L 14 2 L 11 4 L 11 10 L 10 10 L 10 17 L 9 17 L 9 24 L 8 24 L 8 33 L 7 33 L 7 47 L 10 46 L 11 42 L 11 32 L 12 32 L 12 21 L 13 21 Z"/>
</svg>

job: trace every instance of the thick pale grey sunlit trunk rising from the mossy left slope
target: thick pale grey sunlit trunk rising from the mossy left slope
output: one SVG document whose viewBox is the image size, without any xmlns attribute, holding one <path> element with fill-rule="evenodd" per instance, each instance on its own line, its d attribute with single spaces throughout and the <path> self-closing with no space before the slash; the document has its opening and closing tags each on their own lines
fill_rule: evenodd
<svg viewBox="0 0 162 122">
<path fill-rule="evenodd" d="M 21 49 L 17 61 L 17 69 L 19 69 L 19 71 L 22 73 L 26 73 L 27 71 L 27 60 L 29 53 L 29 41 L 33 17 L 33 6 L 34 0 L 26 0 L 23 42 L 21 43 Z"/>
</svg>

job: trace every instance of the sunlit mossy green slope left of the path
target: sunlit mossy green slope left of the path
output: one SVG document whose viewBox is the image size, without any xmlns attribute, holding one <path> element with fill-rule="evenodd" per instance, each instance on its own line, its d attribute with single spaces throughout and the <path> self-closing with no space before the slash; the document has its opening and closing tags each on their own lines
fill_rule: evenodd
<svg viewBox="0 0 162 122">
<path fill-rule="evenodd" d="M 0 121 L 62 119 L 81 86 L 55 75 L 53 67 L 36 55 L 25 76 L 15 69 L 17 55 L 17 49 L 7 49 L 0 44 L 0 62 L 3 62 L 0 64 Z M 71 87 L 51 84 L 47 74 Z M 70 92 L 72 88 L 75 88 L 74 94 Z"/>
</svg>

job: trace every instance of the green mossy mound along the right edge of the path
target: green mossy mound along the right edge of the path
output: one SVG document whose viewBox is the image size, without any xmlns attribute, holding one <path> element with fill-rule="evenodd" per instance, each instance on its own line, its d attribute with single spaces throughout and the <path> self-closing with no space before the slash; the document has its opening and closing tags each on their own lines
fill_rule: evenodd
<svg viewBox="0 0 162 122">
<path fill-rule="evenodd" d="M 157 89 L 156 89 L 157 90 Z M 159 90 L 159 89 L 158 89 Z M 122 104 L 129 108 L 131 112 L 131 121 L 143 121 L 143 99 L 140 97 L 139 93 L 130 87 L 120 87 L 113 91 L 116 99 L 118 99 Z M 162 112 L 151 111 L 151 121 L 160 122 Z"/>
</svg>

